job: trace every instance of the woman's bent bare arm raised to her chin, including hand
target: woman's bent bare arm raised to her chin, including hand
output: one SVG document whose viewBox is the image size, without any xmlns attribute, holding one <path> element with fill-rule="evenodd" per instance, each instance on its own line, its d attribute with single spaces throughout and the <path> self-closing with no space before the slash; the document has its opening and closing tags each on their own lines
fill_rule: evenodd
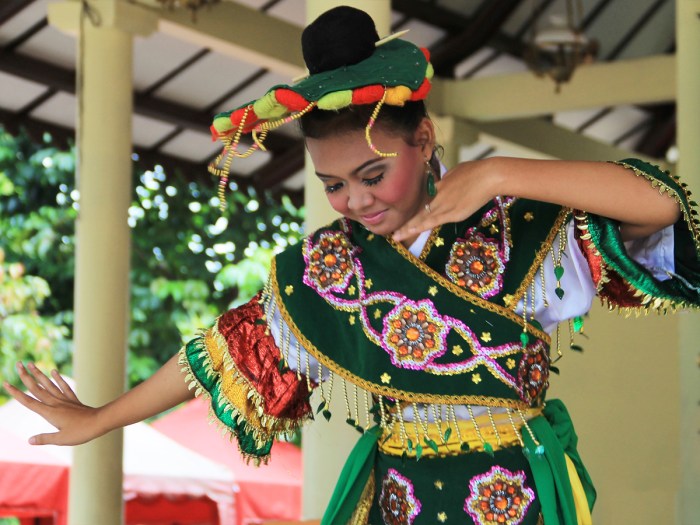
<svg viewBox="0 0 700 525">
<path fill-rule="evenodd" d="M 551 202 L 615 219 L 625 240 L 646 237 L 680 216 L 672 198 L 630 170 L 607 162 L 493 157 L 457 165 L 437 187 L 430 212 L 422 209 L 394 233 L 394 239 L 461 221 L 496 195 Z"/>
</svg>

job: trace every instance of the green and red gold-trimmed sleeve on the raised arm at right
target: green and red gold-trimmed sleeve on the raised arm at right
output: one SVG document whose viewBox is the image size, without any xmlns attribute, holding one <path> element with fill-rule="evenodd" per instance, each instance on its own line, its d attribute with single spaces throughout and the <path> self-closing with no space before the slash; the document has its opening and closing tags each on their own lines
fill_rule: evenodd
<svg viewBox="0 0 700 525">
<path fill-rule="evenodd" d="M 599 297 L 611 308 L 626 311 L 700 306 L 700 223 L 686 185 L 668 172 L 638 159 L 617 164 L 667 193 L 680 207 L 681 218 L 641 241 L 622 241 L 619 223 L 575 212 L 576 241 L 588 262 Z"/>
</svg>

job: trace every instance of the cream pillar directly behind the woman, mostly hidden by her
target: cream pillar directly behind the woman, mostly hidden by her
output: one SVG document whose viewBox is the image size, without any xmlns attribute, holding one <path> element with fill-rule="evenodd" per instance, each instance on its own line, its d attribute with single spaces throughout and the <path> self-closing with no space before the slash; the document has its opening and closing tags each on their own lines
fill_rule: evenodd
<svg viewBox="0 0 700 525">
<path fill-rule="evenodd" d="M 349 5 L 362 9 L 372 16 L 380 37 L 389 34 L 391 5 L 389 0 L 306 0 L 306 20 L 313 22 L 320 14 L 337 7 Z M 306 157 L 306 231 L 311 232 L 331 222 L 337 214 L 328 204 L 323 187 L 316 177 L 310 158 Z M 317 406 L 316 397 L 312 406 Z M 330 500 L 333 487 L 343 467 L 345 458 L 357 442 L 359 434 L 345 423 L 345 406 L 340 396 L 334 396 L 331 404 L 333 417 L 329 422 L 320 418 L 304 429 L 304 495 L 305 518 L 319 518 Z"/>
</svg>

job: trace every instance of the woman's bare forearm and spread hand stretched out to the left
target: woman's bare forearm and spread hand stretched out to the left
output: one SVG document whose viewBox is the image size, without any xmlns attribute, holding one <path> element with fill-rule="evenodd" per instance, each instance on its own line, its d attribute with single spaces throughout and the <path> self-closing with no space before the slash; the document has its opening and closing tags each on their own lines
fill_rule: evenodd
<svg viewBox="0 0 700 525">
<path fill-rule="evenodd" d="M 28 369 L 17 364 L 20 379 L 29 396 L 5 383 L 7 392 L 33 410 L 58 431 L 30 439 L 33 445 L 79 445 L 110 430 L 142 421 L 194 397 L 185 383 L 178 356 L 165 363 L 153 376 L 101 407 L 90 407 L 78 400 L 58 372 L 47 377 L 34 364 Z"/>
</svg>

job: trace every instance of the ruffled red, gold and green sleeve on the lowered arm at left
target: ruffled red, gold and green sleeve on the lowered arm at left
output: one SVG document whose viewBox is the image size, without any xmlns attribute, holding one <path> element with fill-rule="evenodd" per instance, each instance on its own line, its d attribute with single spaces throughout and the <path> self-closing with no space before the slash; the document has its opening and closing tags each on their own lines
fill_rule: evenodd
<svg viewBox="0 0 700 525">
<path fill-rule="evenodd" d="M 260 295 L 187 343 L 180 363 L 190 388 L 211 399 L 212 416 L 246 459 L 266 461 L 276 437 L 311 417 L 309 382 L 286 367 Z"/>
</svg>

